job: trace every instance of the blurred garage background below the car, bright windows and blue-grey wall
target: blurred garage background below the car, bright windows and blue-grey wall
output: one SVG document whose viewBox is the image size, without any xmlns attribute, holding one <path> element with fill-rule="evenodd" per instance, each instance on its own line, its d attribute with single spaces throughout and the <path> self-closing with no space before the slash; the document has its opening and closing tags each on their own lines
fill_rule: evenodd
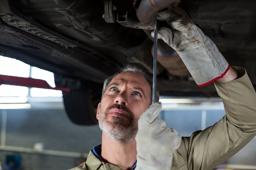
<svg viewBox="0 0 256 170">
<path fill-rule="evenodd" d="M 46 80 L 53 73 L 0 56 L 0 74 Z M 159 117 L 181 136 L 203 130 L 224 115 L 220 98 L 162 97 Z M 0 86 L 0 170 L 67 170 L 101 143 L 98 125 L 72 123 L 58 90 Z M 216 169 L 256 170 L 256 138 Z"/>
</svg>

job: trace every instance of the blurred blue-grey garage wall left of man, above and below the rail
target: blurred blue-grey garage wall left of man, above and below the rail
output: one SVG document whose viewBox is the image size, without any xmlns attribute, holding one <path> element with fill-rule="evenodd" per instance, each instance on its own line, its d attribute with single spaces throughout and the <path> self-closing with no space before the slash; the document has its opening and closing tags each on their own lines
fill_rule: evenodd
<svg viewBox="0 0 256 170">
<path fill-rule="evenodd" d="M 101 143 L 98 125 L 73 124 L 63 109 L 10 109 L 4 112 L 7 112 L 6 146 L 33 148 L 35 143 L 42 143 L 45 150 L 63 151 L 67 155 L 77 152 L 79 156 Z M 3 110 L 0 110 L 1 124 L 2 117 Z M 29 170 L 67 170 L 79 162 L 79 157 L 0 151 L 3 168 L 7 154 L 20 155 L 24 168 Z"/>
</svg>

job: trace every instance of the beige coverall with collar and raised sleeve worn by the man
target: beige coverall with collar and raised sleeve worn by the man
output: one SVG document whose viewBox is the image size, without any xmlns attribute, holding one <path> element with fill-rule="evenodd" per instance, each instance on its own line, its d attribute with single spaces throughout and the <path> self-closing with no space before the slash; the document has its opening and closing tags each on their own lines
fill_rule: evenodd
<svg viewBox="0 0 256 170">
<path fill-rule="evenodd" d="M 256 135 L 255 90 L 245 70 L 233 68 L 240 78 L 225 84 L 214 82 L 226 115 L 205 130 L 182 137 L 180 148 L 173 153 L 172 170 L 211 170 L 236 154 Z M 101 162 L 90 151 L 87 161 L 71 170 L 121 169 Z"/>
</svg>

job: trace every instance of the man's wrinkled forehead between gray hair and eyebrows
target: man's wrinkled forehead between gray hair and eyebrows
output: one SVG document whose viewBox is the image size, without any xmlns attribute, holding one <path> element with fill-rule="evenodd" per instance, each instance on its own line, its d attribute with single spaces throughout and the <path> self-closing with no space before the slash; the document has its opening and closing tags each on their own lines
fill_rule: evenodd
<svg viewBox="0 0 256 170">
<path fill-rule="evenodd" d="M 118 84 L 127 84 L 129 86 L 142 88 L 146 93 L 149 93 L 149 95 L 151 94 L 150 85 L 148 84 L 147 80 L 138 73 L 120 73 L 112 79 L 109 85 L 115 82 Z"/>
</svg>

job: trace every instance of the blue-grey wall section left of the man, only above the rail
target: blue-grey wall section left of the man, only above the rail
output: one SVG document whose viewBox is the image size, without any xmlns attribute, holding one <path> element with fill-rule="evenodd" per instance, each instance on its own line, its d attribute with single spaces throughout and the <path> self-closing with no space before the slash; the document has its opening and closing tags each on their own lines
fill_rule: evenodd
<svg viewBox="0 0 256 170">
<path fill-rule="evenodd" d="M 71 123 L 63 110 L 8 110 L 7 138 L 10 146 L 33 147 L 43 143 L 45 149 L 87 152 L 101 142 L 98 125 Z"/>
</svg>

